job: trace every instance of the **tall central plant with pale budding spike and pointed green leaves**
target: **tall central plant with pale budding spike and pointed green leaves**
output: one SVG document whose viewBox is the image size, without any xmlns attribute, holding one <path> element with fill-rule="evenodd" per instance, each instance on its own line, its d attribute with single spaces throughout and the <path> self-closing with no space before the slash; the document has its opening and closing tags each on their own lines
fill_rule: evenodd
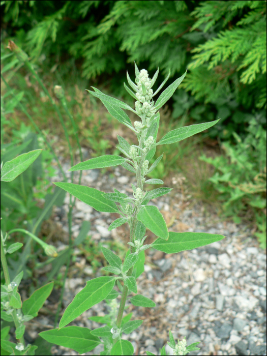
<svg viewBox="0 0 267 356">
<path fill-rule="evenodd" d="M 139 145 L 130 145 L 125 138 L 117 136 L 120 144 L 117 148 L 127 158 L 104 155 L 78 163 L 69 169 L 70 171 L 75 171 L 122 165 L 136 174 L 137 185 L 132 184 L 133 198 L 116 189 L 114 189 L 114 192 L 104 193 L 95 188 L 78 184 L 55 183 L 56 186 L 61 187 L 86 204 L 93 206 L 99 212 L 120 213 L 122 217 L 110 224 L 109 231 L 125 223 L 128 223 L 130 226 L 130 241 L 128 242 L 130 249 L 126 254 L 124 262 L 109 249 L 102 248 L 102 252 L 109 263 L 109 266 L 104 267 L 103 270 L 115 276 L 103 276 L 87 281 L 86 286 L 66 308 L 60 320 L 59 328 L 39 334 L 49 342 L 70 347 L 79 353 L 88 352 L 97 345 L 103 344 L 103 351 L 100 352 L 101 355 L 133 354 L 134 348 L 131 342 L 122 339 L 122 334 L 130 334 L 142 324 L 143 320 L 130 320 L 131 315 L 129 317 L 129 314 L 123 317 L 126 300 L 130 298 L 132 305 L 137 307 L 153 308 L 156 306 L 152 300 L 138 293 L 137 289 L 136 279 L 144 271 L 144 250 L 153 247 L 165 253 L 177 253 L 211 244 L 224 238 L 223 235 L 204 232 L 169 232 L 158 207 L 148 205 L 150 199 L 162 196 L 172 190 L 171 188 L 157 188 L 144 192 L 143 187 L 145 184 L 163 184 L 159 179 L 146 180 L 145 178 L 146 174 L 157 166 L 163 156 L 162 154 L 149 166 L 150 160 L 155 155 L 156 145 L 181 141 L 210 128 L 218 120 L 172 130 L 161 138 L 159 142 L 156 142 L 160 120 L 159 109 L 172 96 L 186 76 L 186 73 L 179 79 L 176 79 L 159 96 L 156 103 L 154 103 L 153 97 L 160 91 L 169 76 L 160 85 L 158 90 L 153 93 L 152 86 L 157 79 L 159 70 L 157 70 L 153 79 L 149 78 L 146 70 L 142 69 L 139 72 L 136 65 L 135 73 L 135 83 L 127 73 L 128 83 L 135 93 L 125 85 L 127 92 L 136 100 L 135 110 L 122 101 L 101 93 L 97 88 L 94 88 L 94 92 L 88 92 L 99 98 L 111 115 L 136 133 Z M 122 109 L 133 111 L 141 118 L 141 121 L 136 121 L 132 125 L 128 115 Z M 117 205 L 116 203 L 119 204 Z M 158 236 L 158 239 L 151 245 L 144 245 L 146 228 Z M 114 289 L 115 283 L 119 291 Z M 76 326 L 67 327 L 70 322 L 93 305 L 104 299 L 108 301 L 116 298 L 120 298 L 117 315 L 115 317 L 112 314 L 112 318 L 106 318 L 104 322 L 107 325 L 103 328 L 89 330 Z M 176 355 L 184 355 L 198 349 L 196 347 L 197 344 L 194 343 L 186 346 L 185 339 L 175 344 L 170 332 L 169 346 L 174 349 L 173 352 Z M 147 352 L 147 354 L 153 353 Z M 161 354 L 166 354 L 165 347 L 163 347 Z"/>
</svg>

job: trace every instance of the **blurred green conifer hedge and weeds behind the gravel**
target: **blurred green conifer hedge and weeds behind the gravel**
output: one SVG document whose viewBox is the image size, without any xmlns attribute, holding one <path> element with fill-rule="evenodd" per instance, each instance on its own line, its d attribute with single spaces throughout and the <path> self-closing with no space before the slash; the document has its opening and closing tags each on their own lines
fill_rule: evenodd
<svg viewBox="0 0 267 356">
<path fill-rule="evenodd" d="M 266 1 L 2 1 L 1 20 L 1 162 L 44 149 L 13 182 L 1 184 L 4 234 L 24 228 L 48 243 L 62 238 L 50 218 L 65 198 L 50 184 L 62 169 L 53 158 L 72 155 L 78 162 L 79 145 L 91 157 L 120 154 L 120 125 L 84 89 L 97 86 L 133 105 L 123 83 L 126 70 L 134 78 L 135 61 L 150 76 L 159 67 L 155 87 L 169 70 L 166 86 L 188 68 L 161 112 L 158 137 L 221 119 L 202 135 L 165 145 L 153 173 L 165 179 L 182 173 L 206 210 L 245 222 L 266 248 Z M 27 53 L 25 61 L 7 48 L 8 40 Z M 64 88 L 68 109 L 54 85 Z M 83 254 L 96 270 L 102 254 L 85 240 L 89 230 L 85 222 L 75 244 L 84 241 Z M 24 239 L 13 232 L 8 244 Z M 33 291 L 43 283 L 38 269 L 52 263 L 46 282 L 64 291 L 75 262 L 71 238 L 56 258 L 25 241 L 23 251 L 8 258 L 11 279 L 23 271 Z M 122 246 L 112 248 L 125 253 Z"/>
</svg>

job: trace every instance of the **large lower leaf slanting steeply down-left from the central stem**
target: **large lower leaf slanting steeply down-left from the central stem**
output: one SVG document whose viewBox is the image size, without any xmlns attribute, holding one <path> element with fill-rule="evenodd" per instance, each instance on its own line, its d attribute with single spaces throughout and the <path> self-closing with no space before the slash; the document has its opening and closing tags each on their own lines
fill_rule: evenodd
<svg viewBox="0 0 267 356">
<path fill-rule="evenodd" d="M 86 286 L 75 295 L 71 304 L 66 308 L 60 321 L 60 329 L 76 319 L 85 310 L 103 301 L 113 289 L 115 280 L 114 277 L 103 276 L 87 281 Z"/>
</svg>

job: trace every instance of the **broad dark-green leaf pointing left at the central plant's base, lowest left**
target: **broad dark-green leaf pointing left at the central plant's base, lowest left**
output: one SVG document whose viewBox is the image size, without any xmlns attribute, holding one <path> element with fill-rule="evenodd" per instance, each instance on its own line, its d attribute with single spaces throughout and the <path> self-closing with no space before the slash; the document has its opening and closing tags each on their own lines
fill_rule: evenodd
<svg viewBox="0 0 267 356">
<path fill-rule="evenodd" d="M 39 335 L 48 342 L 71 348 L 79 353 L 93 350 L 100 339 L 91 334 L 91 330 L 81 327 L 66 327 L 42 331 Z"/>
</svg>

